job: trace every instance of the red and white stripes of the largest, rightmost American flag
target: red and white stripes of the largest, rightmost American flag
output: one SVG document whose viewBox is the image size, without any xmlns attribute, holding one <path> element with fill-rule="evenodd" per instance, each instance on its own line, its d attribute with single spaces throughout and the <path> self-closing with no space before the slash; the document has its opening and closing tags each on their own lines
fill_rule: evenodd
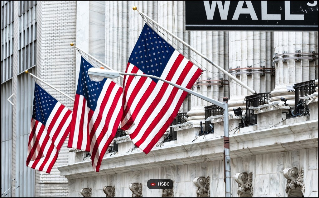
<svg viewBox="0 0 319 198">
<path fill-rule="evenodd" d="M 128 73 L 142 73 L 128 64 Z M 191 88 L 202 70 L 178 51 L 174 51 L 161 78 L 186 88 Z M 121 128 L 143 152 L 150 152 L 177 115 L 187 92 L 163 81 L 155 83 L 150 78 L 125 76 L 124 112 Z"/>
</svg>

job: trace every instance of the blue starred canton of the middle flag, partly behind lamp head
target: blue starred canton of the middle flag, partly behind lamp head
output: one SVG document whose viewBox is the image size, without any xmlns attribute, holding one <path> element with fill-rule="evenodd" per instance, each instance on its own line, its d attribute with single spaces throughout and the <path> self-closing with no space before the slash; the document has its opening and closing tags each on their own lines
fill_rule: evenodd
<svg viewBox="0 0 319 198">
<path fill-rule="evenodd" d="M 86 99 L 86 105 L 95 111 L 98 98 L 107 79 L 100 82 L 91 81 L 87 70 L 93 67 L 81 56 L 80 74 L 78 78 L 77 94 L 83 95 Z"/>
</svg>

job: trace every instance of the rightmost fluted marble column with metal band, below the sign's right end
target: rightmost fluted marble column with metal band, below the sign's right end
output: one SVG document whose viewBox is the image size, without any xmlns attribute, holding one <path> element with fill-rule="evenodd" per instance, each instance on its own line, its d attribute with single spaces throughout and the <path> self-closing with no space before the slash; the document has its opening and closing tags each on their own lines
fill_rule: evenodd
<svg viewBox="0 0 319 198">
<path fill-rule="evenodd" d="M 318 32 L 274 32 L 275 53 L 281 54 L 318 52 Z M 318 59 L 300 58 L 288 59 L 286 62 L 279 60 L 275 63 L 276 80 L 275 89 L 271 92 L 271 101 L 280 101 L 280 97 L 287 99 L 287 104 L 294 106 L 294 93 L 288 92 L 287 85 L 318 79 Z"/>
</svg>

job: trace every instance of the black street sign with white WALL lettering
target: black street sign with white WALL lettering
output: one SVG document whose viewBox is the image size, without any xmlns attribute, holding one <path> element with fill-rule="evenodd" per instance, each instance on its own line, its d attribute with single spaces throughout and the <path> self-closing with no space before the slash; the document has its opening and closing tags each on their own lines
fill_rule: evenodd
<svg viewBox="0 0 319 198">
<path fill-rule="evenodd" d="M 186 1 L 186 30 L 318 31 L 318 1 Z"/>
</svg>

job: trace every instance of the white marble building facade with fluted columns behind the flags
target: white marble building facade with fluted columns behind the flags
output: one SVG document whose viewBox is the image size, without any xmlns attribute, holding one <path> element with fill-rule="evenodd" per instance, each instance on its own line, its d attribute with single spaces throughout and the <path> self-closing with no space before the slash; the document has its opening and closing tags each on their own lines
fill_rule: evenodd
<svg viewBox="0 0 319 198">
<path fill-rule="evenodd" d="M 77 6 L 77 22 L 81 21 L 77 23 L 77 46 L 117 71 L 125 71 L 127 57 L 145 23 L 137 11 L 132 10 L 133 6 L 137 6 L 138 10 L 225 70 L 238 66 L 273 68 L 275 75 L 254 73 L 237 76 L 258 93 L 271 92 L 276 95 L 279 93 L 277 89 L 286 88 L 289 83 L 318 79 L 318 72 L 311 72 L 318 70 L 318 60 L 304 60 L 301 63 L 272 60 L 273 54 L 281 53 L 285 47 L 317 53 L 318 32 L 186 32 L 185 4 L 182 1 L 78 1 Z M 156 25 L 153 27 L 157 29 Z M 94 30 L 99 30 L 95 32 L 96 37 Z M 200 81 L 219 80 L 219 77 L 228 80 L 211 64 L 161 32 L 172 46 L 206 70 Z M 101 51 L 103 49 L 105 53 Z M 77 59 L 79 57 L 77 53 Z M 295 67 L 293 77 L 297 80 L 293 80 L 289 72 Z M 77 71 L 78 68 L 77 61 Z M 302 74 L 297 72 L 300 69 Z M 244 110 L 244 98 L 251 93 L 232 81 L 229 87 L 198 84 L 193 89 L 219 101 L 225 96 L 230 97 L 232 196 L 318 197 L 318 99 L 309 104 L 309 116 L 290 118 L 287 115 L 293 102 L 289 102 L 291 106 L 282 106 L 280 102 L 276 106 L 256 110 L 257 124 L 239 128 L 242 117 L 235 117 L 233 108 L 241 107 Z M 287 93 L 286 89 L 280 92 L 283 97 Z M 280 94 L 272 100 L 280 100 Z M 292 95 L 292 92 L 288 94 Z M 189 116 L 187 124 L 174 126 L 177 140 L 164 142 L 147 155 L 134 148 L 128 135 L 118 138 L 115 140 L 118 151 L 105 154 L 99 173 L 93 171 L 90 158 L 85 158 L 83 152 L 70 152 L 69 164 L 59 167 L 61 175 L 69 180 L 69 196 L 82 197 L 83 189 L 92 189 L 92 197 L 104 197 L 106 191 L 103 189 L 112 188 L 116 197 L 138 197 L 141 194 L 144 197 L 163 197 L 162 190 L 151 190 L 146 183 L 149 179 L 171 179 L 174 187 L 167 191 L 169 196 L 200 197 L 205 194 L 224 197 L 224 119 L 212 121 L 214 133 L 199 136 L 200 122 L 204 123 L 205 119 L 204 106 L 207 105 L 211 104 L 188 96 L 180 108 L 180 112 L 187 112 Z M 298 173 L 291 176 L 287 183 L 284 170 L 291 168 L 298 170 Z M 238 176 L 235 181 L 235 175 L 241 176 L 241 179 Z M 204 183 L 198 184 L 198 178 L 204 178 Z M 132 190 L 132 184 L 138 187 L 134 188 L 136 192 Z M 303 185 L 304 189 L 293 189 L 293 184 Z"/>
</svg>

